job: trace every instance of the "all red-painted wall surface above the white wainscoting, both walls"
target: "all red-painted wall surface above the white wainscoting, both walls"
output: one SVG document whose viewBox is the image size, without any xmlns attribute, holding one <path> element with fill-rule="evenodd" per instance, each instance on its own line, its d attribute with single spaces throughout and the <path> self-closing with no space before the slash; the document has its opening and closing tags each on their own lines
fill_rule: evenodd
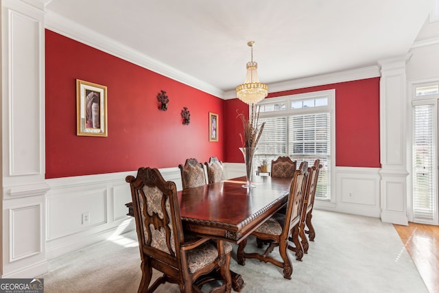
<svg viewBox="0 0 439 293">
<path fill-rule="evenodd" d="M 189 157 L 243 162 L 238 99 L 223 101 L 46 30 L 46 178 L 176 167 Z M 108 89 L 108 137 L 76 135 L 75 80 Z M 379 78 L 270 93 L 269 97 L 335 89 L 337 166 L 380 167 Z M 166 112 L 157 94 L 169 96 Z M 191 124 L 182 125 L 184 106 Z M 209 112 L 219 115 L 219 142 L 209 142 Z"/>
</svg>

